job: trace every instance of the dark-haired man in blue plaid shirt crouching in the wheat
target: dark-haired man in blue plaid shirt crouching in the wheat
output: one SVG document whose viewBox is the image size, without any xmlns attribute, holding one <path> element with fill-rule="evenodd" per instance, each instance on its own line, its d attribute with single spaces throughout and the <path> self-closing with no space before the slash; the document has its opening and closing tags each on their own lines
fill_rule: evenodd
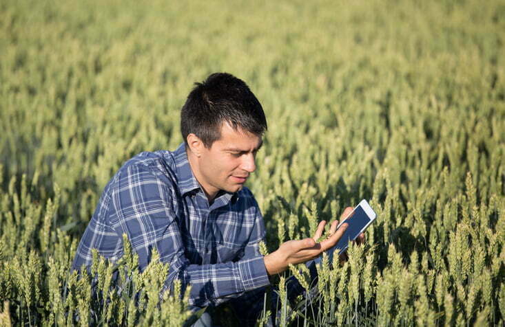
<svg viewBox="0 0 505 327">
<path fill-rule="evenodd" d="M 336 245 L 347 225 L 336 230 L 334 222 L 331 237 L 316 243 L 323 221 L 313 238 L 260 254 L 265 227 L 244 183 L 256 170 L 266 130 L 262 106 L 245 82 L 212 74 L 196 83 L 181 111 L 184 143 L 174 152 L 140 153 L 118 170 L 85 230 L 74 269 L 90 266 L 93 248 L 112 261 L 121 258 L 126 234 L 141 270 L 152 249 L 169 263 L 165 289 L 176 278 L 192 286 L 193 308 L 231 299 L 247 304 L 270 275 Z"/>
</svg>

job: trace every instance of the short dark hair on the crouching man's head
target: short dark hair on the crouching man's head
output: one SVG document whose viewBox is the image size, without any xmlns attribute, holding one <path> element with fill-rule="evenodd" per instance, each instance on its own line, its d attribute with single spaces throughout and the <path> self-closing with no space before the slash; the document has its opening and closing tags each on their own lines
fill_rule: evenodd
<svg viewBox="0 0 505 327">
<path fill-rule="evenodd" d="M 210 148 L 221 137 L 223 122 L 255 135 L 267 130 L 262 106 L 243 80 L 227 73 L 214 73 L 195 84 L 181 110 L 181 133 L 186 145 L 187 135 L 194 133 Z"/>
</svg>

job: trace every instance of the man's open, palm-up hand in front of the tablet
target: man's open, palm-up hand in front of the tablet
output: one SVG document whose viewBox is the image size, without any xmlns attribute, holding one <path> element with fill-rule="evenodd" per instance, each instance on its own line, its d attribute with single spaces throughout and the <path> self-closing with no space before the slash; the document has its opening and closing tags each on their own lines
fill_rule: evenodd
<svg viewBox="0 0 505 327">
<path fill-rule="evenodd" d="M 344 214 L 347 212 L 347 209 L 344 211 Z M 344 214 L 342 214 L 342 216 L 344 216 Z M 335 246 L 342 237 L 342 234 L 344 234 L 345 229 L 347 229 L 347 223 L 342 224 L 337 230 L 338 221 L 333 221 L 330 227 L 330 236 L 326 240 L 322 240 L 318 243 L 317 240 L 322 236 L 325 225 L 326 221 L 321 221 L 319 223 L 313 238 L 288 240 L 282 243 L 276 251 L 265 256 L 264 260 L 267 273 L 269 275 L 282 273 L 282 271 L 285 271 L 289 267 L 289 264 L 306 262 L 318 257 L 322 251 L 326 251 Z"/>
</svg>

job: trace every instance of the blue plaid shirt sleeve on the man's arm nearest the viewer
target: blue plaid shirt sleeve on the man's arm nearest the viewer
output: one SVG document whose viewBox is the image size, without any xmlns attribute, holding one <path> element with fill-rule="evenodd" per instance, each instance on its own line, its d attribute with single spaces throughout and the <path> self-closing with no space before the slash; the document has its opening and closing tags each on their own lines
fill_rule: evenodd
<svg viewBox="0 0 505 327">
<path fill-rule="evenodd" d="M 112 191 L 111 223 L 118 235 L 127 234 L 138 253 L 141 271 L 149 264 L 152 249 L 156 249 L 160 260 L 169 264 L 165 289 L 176 278 L 181 280 L 183 289 L 191 285 L 192 306 L 218 304 L 269 284 L 263 257 L 254 255 L 259 254 L 256 238 L 246 248 L 247 256 L 237 262 L 191 264 L 185 257 L 170 188 L 150 168 L 131 165 L 121 172 Z"/>
</svg>

